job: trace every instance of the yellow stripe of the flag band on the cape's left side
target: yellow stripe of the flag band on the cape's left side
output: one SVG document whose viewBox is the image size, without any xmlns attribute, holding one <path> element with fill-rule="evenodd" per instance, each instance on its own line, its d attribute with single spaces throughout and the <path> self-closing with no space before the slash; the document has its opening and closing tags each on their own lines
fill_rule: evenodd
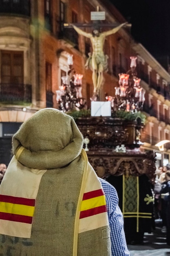
<svg viewBox="0 0 170 256">
<path fill-rule="evenodd" d="M 33 216 L 34 209 L 35 207 L 33 206 L 0 202 L 0 212 L 4 212 L 4 213 Z"/>
</svg>

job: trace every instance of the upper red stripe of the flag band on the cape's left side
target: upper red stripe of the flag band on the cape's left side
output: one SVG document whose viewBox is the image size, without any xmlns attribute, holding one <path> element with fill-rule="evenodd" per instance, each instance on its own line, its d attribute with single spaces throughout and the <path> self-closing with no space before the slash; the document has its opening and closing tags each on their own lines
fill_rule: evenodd
<svg viewBox="0 0 170 256">
<path fill-rule="evenodd" d="M 14 197 L 14 196 L 11 196 L 11 195 L 0 195 L 0 202 L 35 206 L 35 199 L 18 198 L 18 197 Z"/>
</svg>

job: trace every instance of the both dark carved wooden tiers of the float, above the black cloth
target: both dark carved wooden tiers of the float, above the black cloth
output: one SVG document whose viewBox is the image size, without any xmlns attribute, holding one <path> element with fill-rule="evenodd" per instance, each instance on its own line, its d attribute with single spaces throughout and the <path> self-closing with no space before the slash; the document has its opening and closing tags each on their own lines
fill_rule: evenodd
<svg viewBox="0 0 170 256">
<path fill-rule="evenodd" d="M 112 117 L 79 118 L 76 123 L 89 139 L 88 160 L 99 177 L 146 174 L 154 183 L 155 153 L 135 150 L 140 146 L 142 124 Z M 121 144 L 126 146 L 126 152 L 115 151 Z"/>
</svg>

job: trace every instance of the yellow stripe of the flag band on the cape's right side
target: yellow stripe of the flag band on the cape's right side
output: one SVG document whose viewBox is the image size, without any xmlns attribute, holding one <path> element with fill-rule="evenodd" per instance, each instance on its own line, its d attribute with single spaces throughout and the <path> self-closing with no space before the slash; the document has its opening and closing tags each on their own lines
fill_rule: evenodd
<svg viewBox="0 0 170 256">
<path fill-rule="evenodd" d="M 83 200 L 81 205 L 81 211 L 86 211 L 95 207 L 99 207 L 106 204 L 105 195 L 98 196 L 96 198 L 91 198 L 88 200 Z"/>
</svg>

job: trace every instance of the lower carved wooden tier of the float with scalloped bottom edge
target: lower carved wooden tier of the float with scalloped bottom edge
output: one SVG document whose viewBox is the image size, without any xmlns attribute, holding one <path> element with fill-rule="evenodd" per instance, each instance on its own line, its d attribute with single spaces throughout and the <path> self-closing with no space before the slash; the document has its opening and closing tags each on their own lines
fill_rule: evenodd
<svg viewBox="0 0 170 256">
<path fill-rule="evenodd" d="M 88 160 L 99 177 L 146 174 L 150 182 L 154 183 L 155 180 L 154 153 L 148 155 L 148 153 L 132 151 L 126 153 L 88 151 Z"/>
</svg>

